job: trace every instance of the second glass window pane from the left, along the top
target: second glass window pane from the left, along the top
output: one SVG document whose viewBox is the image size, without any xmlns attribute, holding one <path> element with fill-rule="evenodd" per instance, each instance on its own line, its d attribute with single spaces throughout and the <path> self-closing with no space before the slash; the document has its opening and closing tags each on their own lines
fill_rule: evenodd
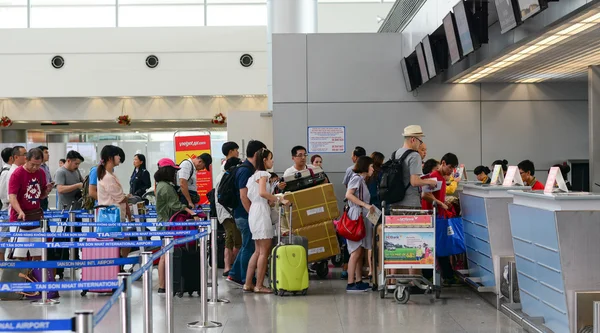
<svg viewBox="0 0 600 333">
<path fill-rule="evenodd" d="M 32 28 L 114 27 L 114 6 L 32 6 Z"/>
</svg>

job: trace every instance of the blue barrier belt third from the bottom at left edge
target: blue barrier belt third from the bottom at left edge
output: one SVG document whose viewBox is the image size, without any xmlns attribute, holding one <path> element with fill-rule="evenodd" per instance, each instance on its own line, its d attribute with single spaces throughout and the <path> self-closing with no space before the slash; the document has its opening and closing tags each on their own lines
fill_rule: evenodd
<svg viewBox="0 0 600 333">
<path fill-rule="evenodd" d="M 0 268 L 78 268 L 97 266 L 123 266 L 139 264 L 139 262 L 140 257 L 88 260 L 1 261 Z"/>
</svg>

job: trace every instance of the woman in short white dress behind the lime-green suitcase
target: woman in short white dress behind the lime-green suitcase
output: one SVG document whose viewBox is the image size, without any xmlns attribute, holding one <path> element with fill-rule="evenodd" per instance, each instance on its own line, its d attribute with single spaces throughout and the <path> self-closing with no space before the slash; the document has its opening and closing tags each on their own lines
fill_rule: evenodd
<svg viewBox="0 0 600 333">
<path fill-rule="evenodd" d="M 267 260 L 273 239 L 273 224 L 271 223 L 270 203 L 279 202 L 289 206 L 290 202 L 281 197 L 276 197 L 269 190 L 269 178 L 267 172 L 273 167 L 273 154 L 266 148 L 256 152 L 256 172 L 248 179 L 248 199 L 252 202 L 248 214 L 248 224 L 255 242 L 255 251 L 250 262 L 246 276 L 245 292 L 254 291 L 260 294 L 270 294 L 271 289 L 263 285 L 265 273 L 267 272 Z M 252 277 L 256 273 L 256 286 L 252 285 Z"/>
</svg>

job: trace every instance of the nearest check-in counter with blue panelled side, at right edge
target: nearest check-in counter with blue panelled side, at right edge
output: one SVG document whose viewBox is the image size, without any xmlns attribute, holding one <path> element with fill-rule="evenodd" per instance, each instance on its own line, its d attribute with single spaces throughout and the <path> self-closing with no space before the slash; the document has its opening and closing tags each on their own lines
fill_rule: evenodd
<svg viewBox="0 0 600 333">
<path fill-rule="evenodd" d="M 579 332 L 578 299 L 600 290 L 600 195 L 510 194 L 523 322 L 554 333 Z"/>
</svg>

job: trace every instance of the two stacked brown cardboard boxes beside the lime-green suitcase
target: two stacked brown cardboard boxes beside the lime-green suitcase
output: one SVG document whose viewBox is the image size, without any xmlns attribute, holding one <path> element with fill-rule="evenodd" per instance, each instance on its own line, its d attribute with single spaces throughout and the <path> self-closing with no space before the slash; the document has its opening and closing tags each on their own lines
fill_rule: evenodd
<svg viewBox="0 0 600 333">
<path fill-rule="evenodd" d="M 288 192 L 285 199 L 292 202 L 293 234 L 308 239 L 308 262 L 317 262 L 340 253 L 333 220 L 340 215 L 332 184 Z M 286 212 L 285 225 L 289 211 Z"/>
</svg>

